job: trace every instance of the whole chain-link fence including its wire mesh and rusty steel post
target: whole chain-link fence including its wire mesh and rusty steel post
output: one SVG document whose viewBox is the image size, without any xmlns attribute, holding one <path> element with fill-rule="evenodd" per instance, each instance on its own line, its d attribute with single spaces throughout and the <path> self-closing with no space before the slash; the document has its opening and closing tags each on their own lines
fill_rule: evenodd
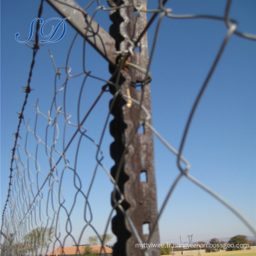
<svg viewBox="0 0 256 256">
<path fill-rule="evenodd" d="M 87 19 L 87 28 L 82 37 L 75 28 L 78 33 L 70 47 L 63 49 L 65 63 L 60 63 L 59 56 L 48 50 L 55 72 L 51 84 L 47 85 L 51 88 L 50 95 L 33 99 L 32 106 L 27 103 L 28 97 L 29 100 L 33 97 L 33 89 L 36 90 L 36 82 L 34 84 L 31 78 L 34 79 L 38 50 L 46 48 L 39 42 L 39 21 L 34 41 L 28 42 L 33 56 L 14 134 L 9 190 L 1 218 L 1 255 L 68 255 L 68 251 L 57 252 L 57 248 L 85 245 L 90 235 L 96 236 L 97 243 L 102 245 L 102 254 L 107 255 L 103 245 L 111 228 L 117 237 L 113 255 L 159 255 L 159 248 L 142 250 L 135 248 L 135 244 L 160 242 L 158 223 L 181 178 L 223 203 L 256 234 L 255 228 L 238 210 L 189 172 L 191 165 L 183 154 L 198 104 L 230 38 L 256 40 L 255 35 L 239 31 L 236 21 L 230 18 L 232 1 L 227 1 L 223 16 L 176 14 L 174 9 L 165 7 L 168 1 L 151 3 L 155 9 L 146 9 L 146 1 L 134 0 L 112 0 L 107 1 L 108 4 L 90 1 L 81 3 L 86 5 L 82 8 L 71 5 L 73 1 L 58 0 L 50 4 L 54 2 L 63 9 L 68 6 L 74 13 L 82 14 Z M 43 16 L 44 4 L 41 1 L 38 18 Z M 88 18 L 87 11 L 92 13 L 92 19 Z M 105 14 L 112 21 L 110 34 L 115 39 L 114 50 L 105 48 L 109 38 L 95 33 L 92 23 L 95 17 Z M 157 80 L 153 71 L 151 75 L 150 67 L 154 63 L 161 24 L 173 19 L 200 19 L 225 26 L 222 43 L 191 106 L 177 149 L 154 126 L 154 118 L 152 122 L 154 102 L 151 111 L 149 88 L 149 82 Z M 95 43 L 97 36 L 103 50 Z M 93 60 L 87 57 L 92 50 L 88 42 L 100 52 L 93 55 Z M 79 57 L 77 52 L 80 52 Z M 111 75 L 97 64 L 102 58 L 110 63 Z M 48 76 L 43 68 L 41 73 Z M 166 125 L 165 113 L 162 118 L 162 125 Z M 109 137 L 109 127 L 114 139 Z M 156 194 L 161 187 L 156 190 L 153 137 L 157 145 L 165 146 L 166 151 L 174 154 L 178 169 L 159 208 Z M 109 156 L 110 144 L 114 161 Z M 157 166 L 156 162 L 156 176 L 160 172 Z M 144 194 L 140 196 L 137 192 Z M 76 248 L 76 255 L 85 255 L 84 247 Z"/>
</svg>

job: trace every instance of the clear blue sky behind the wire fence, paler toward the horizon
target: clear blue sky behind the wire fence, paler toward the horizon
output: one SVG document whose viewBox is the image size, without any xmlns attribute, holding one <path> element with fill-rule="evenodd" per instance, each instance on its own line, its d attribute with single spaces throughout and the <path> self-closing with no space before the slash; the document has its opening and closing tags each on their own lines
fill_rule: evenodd
<svg viewBox="0 0 256 256">
<path fill-rule="evenodd" d="M 87 1 L 78 1 L 85 6 Z M 103 1 L 102 1 L 103 3 Z M 150 1 L 149 9 L 154 9 L 158 1 Z M 14 35 L 20 33 L 20 40 L 28 36 L 31 21 L 37 17 L 39 1 L 1 1 L 1 209 L 6 200 L 9 183 L 9 168 L 11 149 L 14 146 L 14 132 L 18 125 L 18 114 L 25 94 L 22 86 L 26 86 L 31 64 L 32 50 L 22 43 L 16 42 Z M 106 4 L 107 5 L 107 4 Z M 169 1 L 166 7 L 173 9 L 173 14 L 210 14 L 223 16 L 225 1 Z M 89 9 L 92 14 L 95 6 Z M 230 18 L 238 21 L 238 30 L 256 34 L 256 2 L 233 1 Z M 150 15 L 149 15 L 150 16 Z M 42 18 L 60 17 L 48 4 L 43 6 Z M 100 11 L 95 20 L 108 31 L 110 20 L 107 12 Z M 152 46 L 156 23 L 149 29 L 149 50 Z M 152 75 L 151 97 L 154 128 L 175 149 L 181 144 L 181 137 L 191 111 L 196 95 L 203 85 L 213 60 L 225 38 L 227 28 L 222 21 L 208 19 L 171 19 L 164 18 L 161 23 L 154 58 L 151 63 Z M 25 119 L 31 118 L 33 127 L 36 112 L 33 104 L 39 98 L 38 107 L 47 115 L 53 100 L 55 70 L 48 53 L 50 48 L 57 67 L 65 65 L 68 48 L 73 36 L 73 28 L 67 26 L 67 32 L 58 43 L 46 44 L 38 51 L 36 66 L 33 70 L 31 92 L 26 105 Z M 78 38 L 70 55 L 71 74 L 82 71 L 82 40 Z M 189 173 L 203 184 L 225 198 L 231 205 L 244 215 L 252 225 L 255 220 L 255 85 L 256 85 L 256 43 L 238 36 L 231 36 L 223 57 L 210 79 L 206 92 L 198 105 L 196 114 L 188 132 L 183 156 L 191 163 Z M 86 70 L 92 75 L 107 80 L 110 78 L 108 65 L 95 50 L 86 46 Z M 65 79 L 62 71 L 57 87 L 60 88 Z M 73 73 L 74 72 L 74 73 Z M 67 110 L 76 120 L 78 94 L 82 77 L 73 78 L 73 84 L 68 87 Z M 93 100 L 99 94 L 104 83 L 88 78 L 80 102 L 83 111 L 88 110 Z M 85 127 L 88 135 L 96 142 L 100 140 L 102 127 L 107 117 L 111 95 L 105 93 L 95 110 L 87 120 Z M 74 118 L 74 119 L 73 119 Z M 45 137 L 46 119 L 39 117 L 40 125 L 37 132 Z M 60 123 L 63 120 L 60 119 Z M 62 132 L 60 126 L 60 134 Z M 70 137 L 72 128 L 66 132 Z M 102 150 L 105 154 L 103 163 L 110 170 L 113 165 L 109 155 L 109 145 L 112 142 L 109 129 L 105 134 Z M 25 130 L 21 134 L 25 140 Z M 50 136 L 49 136 L 50 137 Z M 36 148 L 33 138 L 28 139 L 31 152 Z M 68 157 L 74 163 L 75 141 Z M 166 149 L 164 144 L 155 138 L 156 186 L 159 208 L 166 197 L 169 188 L 178 176 L 176 156 Z M 61 142 L 60 142 L 61 148 Z M 92 171 L 95 168 L 96 148 L 88 140 L 82 141 L 78 166 L 81 167 L 80 178 L 83 188 L 87 190 Z M 40 154 L 43 170 L 48 169 L 48 159 Z M 34 154 L 35 155 L 35 154 Z M 72 165 L 72 164 L 71 164 Z M 83 172 L 83 168 L 88 172 Z M 60 168 L 61 173 L 61 168 Z M 63 189 L 66 201 L 73 200 L 72 176 L 64 172 Z M 89 177 L 89 178 L 88 178 Z M 39 177 L 39 183 L 43 176 Z M 110 213 L 110 193 L 112 184 L 107 175 L 100 169 L 96 175 L 95 186 L 90 193 L 92 203 L 93 225 L 99 233 L 103 233 L 105 223 Z M 79 200 L 84 200 L 78 198 Z M 73 230 L 79 233 L 82 218 L 81 206 L 75 204 Z M 183 240 L 193 234 L 193 240 L 210 238 L 226 238 L 233 235 L 252 235 L 241 221 L 201 188 L 182 178 L 171 196 L 159 223 L 161 242 L 178 242 L 179 235 Z M 94 233 L 88 228 L 82 240 Z"/>
</svg>

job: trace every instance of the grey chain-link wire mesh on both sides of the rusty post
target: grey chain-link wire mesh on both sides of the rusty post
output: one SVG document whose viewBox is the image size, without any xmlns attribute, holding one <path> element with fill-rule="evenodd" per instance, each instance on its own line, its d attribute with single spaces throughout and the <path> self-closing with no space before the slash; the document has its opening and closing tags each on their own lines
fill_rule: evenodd
<svg viewBox="0 0 256 256">
<path fill-rule="evenodd" d="M 93 4 L 96 6 L 94 14 L 97 12 L 111 12 L 115 9 L 126 9 L 131 6 L 123 4 L 116 7 L 106 7 L 102 2 L 91 1 L 85 7 L 85 10 Z M 159 208 L 157 219 L 161 218 L 174 189 L 178 186 L 181 178 L 184 177 L 202 188 L 203 191 L 210 193 L 220 203 L 223 203 L 247 225 L 252 233 L 255 233 L 255 229 L 250 223 L 247 223 L 247 220 L 238 210 L 235 210 L 217 193 L 210 190 L 188 172 L 190 164 L 183 156 L 183 151 L 191 121 L 196 114 L 198 102 L 203 97 L 203 92 L 206 90 L 225 48 L 228 47 L 227 43 L 230 37 L 235 35 L 240 36 L 243 40 L 253 41 L 256 40 L 256 37 L 255 35 L 238 31 L 236 22 L 230 19 L 229 13 L 232 1 L 227 1 L 225 10 L 223 10 L 224 15 L 221 17 L 192 14 L 176 15 L 173 14 L 171 9 L 164 7 L 167 1 L 157 2 L 159 3 L 159 8 L 146 11 L 143 6 L 137 4 L 137 1 L 132 1 L 132 7 L 137 16 L 139 16 L 140 12 L 147 12 L 151 17 L 142 32 L 142 36 L 148 32 L 152 24 L 156 24 L 156 30 L 151 41 L 152 46 L 147 70 L 142 70 L 137 66 L 132 66 L 131 63 L 126 63 L 126 65 L 137 68 L 139 72 L 143 73 L 146 80 L 154 80 L 154 78 L 151 78 L 149 70 L 151 62 L 154 61 L 156 41 L 159 38 L 159 30 L 164 19 L 201 18 L 202 21 L 211 19 L 216 22 L 222 22 L 226 26 L 223 43 L 206 75 L 206 80 L 201 86 L 195 103 L 191 107 L 188 122 L 186 122 L 181 138 L 181 146 L 178 149 L 174 149 L 168 140 L 164 139 L 156 128 L 151 125 L 151 122 L 149 122 L 151 121 L 151 113 L 142 105 L 142 101 L 134 99 L 128 93 L 125 95 L 119 90 L 114 95 L 115 99 L 122 94 L 122 97 L 127 100 L 127 104 L 138 105 L 139 109 L 144 112 L 143 119 L 139 120 L 139 125 L 143 124 L 148 129 L 151 129 L 155 139 L 164 144 L 166 149 L 176 156 L 179 173 L 174 182 L 170 184 L 164 203 Z M 112 1 L 110 1 L 110 4 L 114 6 Z M 41 17 L 42 11 L 43 1 L 38 17 Z M 137 26 L 137 23 L 134 26 Z M 15 142 L 14 149 L 12 149 L 9 191 L 2 214 L 1 243 L 3 246 L 1 253 L 2 255 L 45 255 L 46 252 L 50 252 L 57 247 L 85 244 L 88 234 L 96 235 L 103 245 L 105 242 L 102 241 L 102 236 L 100 235 L 109 233 L 111 219 L 116 208 L 119 208 L 127 218 L 138 243 L 142 242 L 134 223 L 122 208 L 124 195 L 117 183 L 115 183 L 114 177 L 110 174 L 110 162 L 112 163 L 112 161 L 107 161 L 107 165 L 105 165 L 107 156 L 103 154 L 108 150 L 105 144 L 107 145 L 111 142 L 107 137 L 107 129 L 111 119 L 110 112 L 112 111 L 112 105 L 108 110 L 107 102 L 111 98 L 109 90 L 110 87 L 116 85 L 111 79 L 94 75 L 99 72 L 94 73 L 94 70 L 86 70 L 87 63 L 85 58 L 87 52 L 85 50 L 85 40 L 80 42 L 83 59 L 80 68 L 76 70 L 73 70 L 70 66 L 70 58 L 74 58 L 72 54 L 73 47 L 78 39 L 77 35 L 66 52 L 67 60 L 65 65 L 58 66 L 58 57 L 50 52 L 49 58 L 53 60 L 55 68 L 54 93 L 53 95 L 48 95 L 48 97 L 52 97 L 52 101 L 47 107 L 48 111 L 41 111 L 41 105 L 44 105 L 44 102 L 39 99 L 32 106 L 33 114 L 31 116 L 26 114 L 25 107 L 30 107 L 26 105 L 26 102 L 28 95 L 32 94 L 30 93 L 32 90 L 31 77 L 36 53 L 38 48 L 44 47 L 38 46 L 38 30 L 39 25 L 36 28 L 36 41 L 33 46 L 28 85 L 23 88 L 26 97 L 22 111 L 18 113 L 18 129 L 14 134 Z M 127 56 L 127 54 L 134 55 L 142 36 L 139 36 L 139 38 L 125 38 L 125 40 L 129 41 L 128 47 L 125 50 L 117 51 L 117 54 L 122 56 Z M 121 73 L 121 70 L 120 66 L 116 67 L 117 73 Z M 33 94 L 31 97 L 33 97 Z M 76 112 L 72 110 L 73 105 L 78 106 L 76 107 Z M 97 116 L 100 111 L 102 111 L 102 114 Z M 99 127 L 100 129 L 98 129 Z M 139 126 L 137 129 L 139 129 Z M 100 133 L 97 133 L 98 130 L 100 130 Z M 104 189 L 105 195 L 98 194 L 99 187 Z M 110 195 L 113 188 L 116 193 L 119 193 L 120 200 L 115 202 L 115 206 L 111 207 Z M 109 206 L 105 208 L 107 204 Z M 103 226 L 103 223 L 105 228 L 99 228 Z M 157 223 L 151 227 L 151 233 L 153 233 L 156 225 Z M 151 233 L 148 241 L 151 240 Z M 82 255 L 82 253 L 78 250 L 78 255 Z M 146 254 L 145 250 L 144 255 Z"/>
</svg>

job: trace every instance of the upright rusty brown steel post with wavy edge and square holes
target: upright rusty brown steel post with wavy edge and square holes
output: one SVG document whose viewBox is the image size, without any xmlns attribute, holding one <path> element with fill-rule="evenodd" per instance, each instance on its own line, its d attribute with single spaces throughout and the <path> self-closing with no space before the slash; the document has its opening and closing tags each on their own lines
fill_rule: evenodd
<svg viewBox="0 0 256 256">
<path fill-rule="evenodd" d="M 148 255 L 156 256 L 160 255 L 159 247 L 142 250 L 136 245 L 147 242 L 149 234 L 149 243 L 159 245 L 159 230 L 158 225 L 152 230 L 158 215 L 153 134 L 151 129 L 144 125 L 146 113 L 141 107 L 143 105 L 151 114 L 151 92 L 145 73 L 149 64 L 146 33 L 137 50 L 127 53 L 129 47 L 136 47 L 132 42 L 136 41 L 146 27 L 146 13 L 136 13 L 133 2 L 109 1 L 112 7 L 129 6 L 114 9 L 110 13 L 113 22 L 110 35 L 115 38 L 116 48 L 121 54 L 120 58 L 117 58 L 118 72 L 110 67 L 112 82 L 116 84 L 116 87 L 110 88 L 115 95 L 110 102 L 114 115 L 110 124 L 110 132 L 114 137 L 111 155 L 115 161 L 111 174 L 119 188 L 119 192 L 114 188 L 112 194 L 112 206 L 117 213 L 112 220 L 112 230 L 117 235 L 113 255 L 139 256 L 147 252 Z M 146 0 L 137 0 L 137 4 L 146 9 Z M 132 65 L 125 65 L 127 62 Z M 151 124 L 151 119 L 146 122 Z M 139 133 L 140 126 L 143 129 Z M 149 228 L 146 232 L 145 225 Z"/>
</svg>

